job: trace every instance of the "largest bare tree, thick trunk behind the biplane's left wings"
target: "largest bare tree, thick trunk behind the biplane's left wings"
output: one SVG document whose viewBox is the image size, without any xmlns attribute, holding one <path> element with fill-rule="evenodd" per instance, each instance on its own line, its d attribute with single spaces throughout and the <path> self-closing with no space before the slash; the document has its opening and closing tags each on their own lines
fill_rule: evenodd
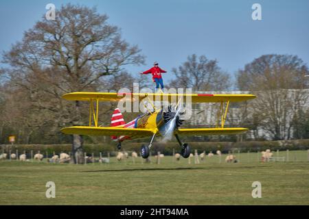
<svg viewBox="0 0 309 219">
<path fill-rule="evenodd" d="M 128 64 L 144 63 L 137 46 L 122 40 L 119 29 L 107 23 L 106 14 L 95 8 L 67 4 L 56 12 L 56 21 L 45 16 L 25 32 L 23 40 L 4 53 L 10 75 L 28 90 L 40 109 L 65 118 L 62 125 L 80 125 L 82 103 L 65 110 L 60 96 L 66 92 L 96 90 L 102 77 L 123 70 Z M 47 96 L 49 101 L 47 103 Z M 73 135 L 72 152 L 82 157 L 82 136 Z M 82 160 L 82 159 L 79 159 Z"/>
</svg>

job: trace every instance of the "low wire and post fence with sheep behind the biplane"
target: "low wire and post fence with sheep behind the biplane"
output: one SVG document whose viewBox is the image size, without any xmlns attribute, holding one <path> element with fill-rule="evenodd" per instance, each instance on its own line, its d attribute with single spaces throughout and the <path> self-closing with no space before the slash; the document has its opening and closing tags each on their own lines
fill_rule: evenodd
<svg viewBox="0 0 309 219">
<path fill-rule="evenodd" d="M 77 160 L 78 163 L 82 164 L 109 164 L 109 163 L 121 163 L 128 162 L 132 164 L 225 164 L 225 163 L 257 163 L 257 162 L 309 162 L 309 150 L 306 151 L 273 151 L 271 157 L 266 157 L 263 159 L 262 152 L 251 152 L 247 151 L 247 153 L 240 153 L 237 151 L 229 151 L 228 154 L 220 154 L 214 155 L 211 151 L 198 151 L 194 150 L 194 155 L 190 155 L 187 159 L 181 157 L 181 159 L 175 159 L 175 149 L 173 149 L 173 156 L 164 156 L 163 153 L 157 152 L 155 155 L 150 155 L 148 159 L 142 159 L 139 157 L 132 157 L 131 152 L 122 151 L 124 153 L 124 157 L 118 157 L 117 151 L 100 151 L 98 153 L 84 153 L 82 160 Z M 5 149 L 1 149 L 1 154 L 7 154 L 5 159 L 9 161 L 23 161 L 23 162 L 45 162 L 45 163 L 73 163 L 73 157 L 71 152 L 63 151 L 63 153 L 67 154 L 68 157 L 62 158 L 60 154 L 56 154 L 54 151 L 52 153 L 48 153 L 47 151 L 43 155 L 43 159 L 36 154 L 41 154 L 41 151 L 19 151 L 18 149 L 12 151 Z M 204 153 L 205 157 L 201 157 L 201 153 Z M 103 156 L 105 154 L 106 156 Z M 212 154 L 211 156 L 209 154 Z M 231 157 L 233 155 L 233 157 Z M 0 155 L 1 156 L 1 155 Z M 228 156 L 230 159 L 228 159 Z M 166 157 L 166 158 L 165 158 Z M 168 158 L 172 157 L 172 159 Z M 193 162 L 192 162 L 193 158 Z M 3 157 L 0 159 L 3 160 Z M 181 160 L 181 162 L 179 162 Z"/>
</svg>

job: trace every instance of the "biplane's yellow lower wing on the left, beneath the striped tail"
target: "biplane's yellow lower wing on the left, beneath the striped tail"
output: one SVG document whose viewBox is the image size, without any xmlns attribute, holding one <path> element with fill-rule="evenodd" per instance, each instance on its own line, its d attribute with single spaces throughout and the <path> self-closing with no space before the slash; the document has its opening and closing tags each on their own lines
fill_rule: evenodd
<svg viewBox="0 0 309 219">
<path fill-rule="evenodd" d="M 129 136 L 130 138 L 142 138 L 152 136 L 155 130 L 152 129 L 128 129 L 119 127 L 89 127 L 72 126 L 61 129 L 66 134 L 78 134 L 87 136 Z"/>
</svg>

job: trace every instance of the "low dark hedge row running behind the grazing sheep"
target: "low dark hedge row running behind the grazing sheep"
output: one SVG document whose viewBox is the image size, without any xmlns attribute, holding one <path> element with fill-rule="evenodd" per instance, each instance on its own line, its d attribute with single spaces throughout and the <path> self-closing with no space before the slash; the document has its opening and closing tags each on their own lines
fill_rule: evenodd
<svg viewBox="0 0 309 219">
<path fill-rule="evenodd" d="M 124 151 L 139 151 L 141 144 L 145 143 L 137 143 L 137 142 L 124 142 L 122 144 L 122 149 Z M 41 153 L 48 153 L 52 155 L 52 153 L 59 154 L 61 152 L 68 153 L 71 151 L 71 144 L 1 144 L 2 150 L 7 152 L 9 150 L 13 152 L 19 150 L 19 153 L 23 153 L 23 151 L 41 151 Z M 271 151 L 284 151 L 286 149 L 291 150 L 306 150 L 309 149 L 309 139 L 306 140 L 285 140 L 285 141 L 264 141 L 264 142 L 190 142 L 190 146 L 192 149 L 192 153 L 194 153 L 194 149 L 198 150 L 198 153 L 202 151 L 216 152 L 217 150 L 222 151 L 222 153 L 228 153 L 229 151 L 240 151 L 240 152 L 256 152 L 256 151 L 265 151 L 266 149 L 271 149 Z M 160 151 L 165 155 L 172 155 L 173 149 L 175 152 L 180 151 L 180 146 L 177 142 L 155 142 L 152 146 L 152 153 L 157 153 Z M 84 144 L 84 151 L 91 155 L 91 153 L 95 153 L 98 155 L 102 152 L 103 156 L 106 156 L 108 152 L 111 153 L 111 156 L 115 155 L 116 147 L 115 144 Z M 2 153 L 2 151 L 0 151 Z"/>
</svg>

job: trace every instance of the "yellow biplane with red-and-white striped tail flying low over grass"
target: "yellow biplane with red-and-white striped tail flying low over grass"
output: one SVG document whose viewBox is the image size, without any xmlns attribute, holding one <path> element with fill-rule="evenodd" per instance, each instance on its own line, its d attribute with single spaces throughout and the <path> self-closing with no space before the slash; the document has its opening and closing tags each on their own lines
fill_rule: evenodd
<svg viewBox="0 0 309 219">
<path fill-rule="evenodd" d="M 185 158 L 190 155 L 190 146 L 182 143 L 179 136 L 227 135 L 247 131 L 246 128 L 225 127 L 227 111 L 231 102 L 240 102 L 254 99 L 252 94 L 168 94 L 168 93 L 111 93 L 111 92 L 72 92 L 64 94 L 62 98 L 69 101 L 89 101 L 89 126 L 73 126 L 61 129 L 66 134 L 80 134 L 89 136 L 111 136 L 118 142 L 117 149 L 121 149 L 121 142 L 126 139 L 150 138 L 148 146 L 141 146 L 141 157 L 147 158 L 155 136 L 175 136 L 181 146 L 181 155 Z M 177 99 L 176 106 L 172 102 Z M 138 116 L 129 123 L 124 123 L 122 113 L 117 108 L 111 118 L 111 127 L 98 125 L 98 111 L 100 101 L 148 101 L 152 110 Z M 168 101 L 167 109 L 156 109 L 153 101 Z M 218 123 L 215 128 L 185 129 L 180 126 L 181 101 L 183 103 L 220 103 Z M 146 105 L 145 105 L 146 106 Z"/>
</svg>

